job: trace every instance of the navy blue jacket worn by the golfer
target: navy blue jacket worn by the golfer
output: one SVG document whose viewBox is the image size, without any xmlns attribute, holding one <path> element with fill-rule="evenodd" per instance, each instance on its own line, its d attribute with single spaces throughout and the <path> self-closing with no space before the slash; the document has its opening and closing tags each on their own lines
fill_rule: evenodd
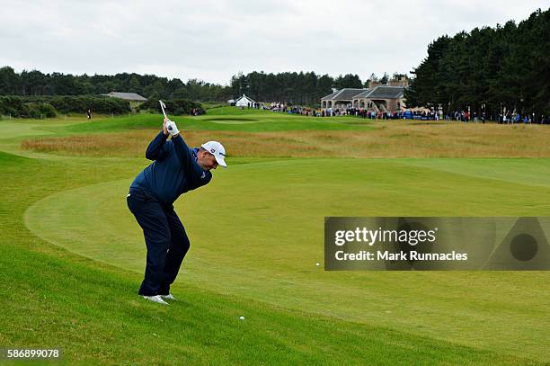
<svg viewBox="0 0 550 366">
<path fill-rule="evenodd" d="M 185 192 L 208 184 L 212 174 L 197 163 L 198 149 L 191 149 L 178 135 L 171 141 L 161 131 L 149 143 L 146 158 L 155 160 L 137 174 L 130 185 L 132 190 L 145 189 L 164 207 L 172 208 L 173 201 Z"/>
</svg>

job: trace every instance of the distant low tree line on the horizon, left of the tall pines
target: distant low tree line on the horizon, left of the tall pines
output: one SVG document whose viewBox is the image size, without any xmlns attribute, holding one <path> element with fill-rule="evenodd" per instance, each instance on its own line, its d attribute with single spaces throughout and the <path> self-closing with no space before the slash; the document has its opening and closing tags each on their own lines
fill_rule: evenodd
<svg viewBox="0 0 550 366">
<path fill-rule="evenodd" d="M 397 78 L 404 76 L 394 74 Z M 391 78 L 387 74 L 379 81 Z M 13 67 L 0 68 L 0 95 L 40 96 L 40 95 L 98 95 L 110 92 L 137 93 L 147 99 L 191 100 L 197 102 L 224 103 L 243 94 L 262 102 L 294 103 L 315 106 L 320 99 L 331 94 L 333 88 L 362 88 L 369 81 L 378 80 L 372 74 L 365 83 L 359 76 L 317 75 L 315 72 L 283 72 L 265 74 L 252 72 L 232 76 L 229 85 L 210 84 L 198 79 L 187 83 L 178 78 L 169 79 L 154 75 L 121 73 L 114 76 L 51 73 L 38 70 L 14 71 Z"/>
</svg>

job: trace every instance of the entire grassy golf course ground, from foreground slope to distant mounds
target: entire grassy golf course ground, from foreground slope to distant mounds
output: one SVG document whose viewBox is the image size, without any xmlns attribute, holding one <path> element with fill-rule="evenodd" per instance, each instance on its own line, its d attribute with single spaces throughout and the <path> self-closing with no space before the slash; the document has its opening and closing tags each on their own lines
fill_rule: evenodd
<svg viewBox="0 0 550 366">
<path fill-rule="evenodd" d="M 171 118 L 228 168 L 174 203 L 191 249 L 170 306 L 137 296 L 126 201 L 162 115 L 0 121 L 3 347 L 71 365 L 549 364 L 550 272 L 324 271 L 325 217 L 550 216 L 548 126 Z"/>
</svg>

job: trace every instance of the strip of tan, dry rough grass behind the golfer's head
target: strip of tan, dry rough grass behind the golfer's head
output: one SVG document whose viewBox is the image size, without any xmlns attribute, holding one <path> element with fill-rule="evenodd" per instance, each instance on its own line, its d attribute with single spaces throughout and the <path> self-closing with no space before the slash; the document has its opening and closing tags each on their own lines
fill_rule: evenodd
<svg viewBox="0 0 550 366">
<path fill-rule="evenodd" d="M 368 130 L 182 131 L 190 146 L 218 139 L 229 156 L 550 157 L 550 128 L 465 123 L 377 122 Z M 142 156 L 157 130 L 32 138 L 31 151 L 76 156 Z"/>
</svg>

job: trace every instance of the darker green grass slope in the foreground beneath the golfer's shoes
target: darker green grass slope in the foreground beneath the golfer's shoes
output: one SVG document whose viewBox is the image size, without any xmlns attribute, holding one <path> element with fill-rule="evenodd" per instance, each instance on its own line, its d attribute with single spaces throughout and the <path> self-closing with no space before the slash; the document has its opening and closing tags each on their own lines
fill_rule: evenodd
<svg viewBox="0 0 550 366">
<path fill-rule="evenodd" d="M 182 286 L 182 300 L 160 308 L 129 296 L 137 275 L 12 245 L 4 246 L 2 263 L 13 268 L 14 283 L 2 290 L 17 304 L 4 307 L 12 321 L 3 344 L 60 347 L 70 364 L 528 362 L 194 286 Z"/>
</svg>

